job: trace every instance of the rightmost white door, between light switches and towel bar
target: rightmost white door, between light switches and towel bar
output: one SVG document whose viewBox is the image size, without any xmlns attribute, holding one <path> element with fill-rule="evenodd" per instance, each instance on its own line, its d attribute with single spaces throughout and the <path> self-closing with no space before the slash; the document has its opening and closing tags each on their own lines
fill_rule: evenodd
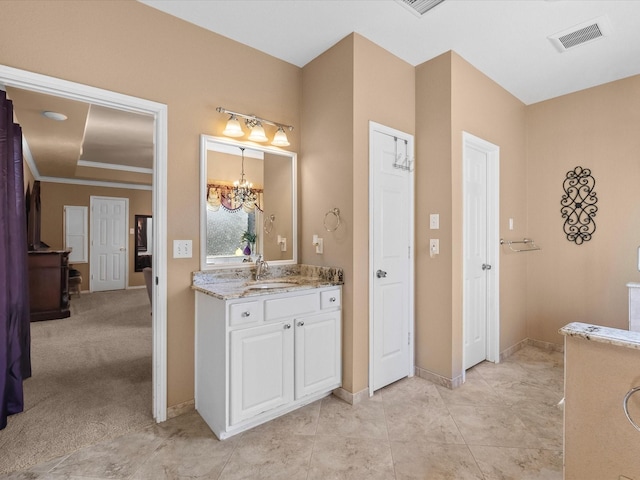
<svg viewBox="0 0 640 480">
<path fill-rule="evenodd" d="M 463 145 L 463 330 L 465 370 L 496 361 L 497 148 L 465 136 Z M 493 245 L 495 243 L 495 245 Z"/>
</svg>

